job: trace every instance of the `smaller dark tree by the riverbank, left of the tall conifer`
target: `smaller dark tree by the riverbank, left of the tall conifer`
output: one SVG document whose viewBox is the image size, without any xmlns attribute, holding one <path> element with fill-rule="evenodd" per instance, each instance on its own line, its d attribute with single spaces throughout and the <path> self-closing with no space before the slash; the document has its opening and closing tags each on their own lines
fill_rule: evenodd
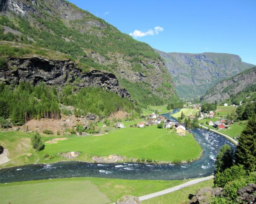
<svg viewBox="0 0 256 204">
<path fill-rule="evenodd" d="M 223 172 L 233 165 L 233 150 L 230 145 L 224 144 L 215 161 L 215 174 Z"/>
</svg>

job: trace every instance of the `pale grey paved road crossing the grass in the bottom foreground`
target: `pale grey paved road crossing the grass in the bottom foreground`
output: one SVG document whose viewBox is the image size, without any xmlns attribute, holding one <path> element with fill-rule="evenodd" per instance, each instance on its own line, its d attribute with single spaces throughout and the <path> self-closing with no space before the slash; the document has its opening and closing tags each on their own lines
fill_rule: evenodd
<svg viewBox="0 0 256 204">
<path fill-rule="evenodd" d="M 206 180 L 209 180 L 211 178 L 214 178 L 214 176 L 208 176 L 208 177 L 204 177 L 204 178 L 197 178 L 197 179 L 194 179 L 194 180 L 191 180 L 191 181 L 188 181 L 184 184 L 180 184 L 178 186 L 175 186 L 175 187 L 172 187 L 172 188 L 168 188 L 168 189 L 165 189 L 165 190 L 161 190 L 159 192 L 156 192 L 156 193 L 151 193 L 151 194 L 148 194 L 148 195 L 143 195 L 143 196 L 140 196 L 139 199 L 140 201 L 143 201 L 143 200 L 147 200 L 147 199 L 150 199 L 150 198 L 154 198 L 154 197 L 157 197 L 159 195 L 164 195 L 166 193 L 171 193 L 173 191 L 176 191 L 176 190 L 180 190 L 182 188 L 185 188 L 185 187 L 188 187 L 188 186 L 191 186 L 193 184 L 197 184 L 197 183 L 200 183 L 202 181 L 206 181 Z"/>
</svg>

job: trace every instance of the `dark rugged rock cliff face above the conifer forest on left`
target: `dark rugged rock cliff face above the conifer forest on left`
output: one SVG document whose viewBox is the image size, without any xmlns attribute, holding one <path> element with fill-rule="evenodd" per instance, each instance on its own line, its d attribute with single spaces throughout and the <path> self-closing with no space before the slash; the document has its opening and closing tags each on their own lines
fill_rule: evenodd
<svg viewBox="0 0 256 204">
<path fill-rule="evenodd" d="M 69 82 L 78 89 L 89 86 L 101 87 L 119 94 L 122 98 L 130 98 L 130 94 L 120 87 L 114 74 L 97 70 L 83 73 L 70 60 L 49 60 L 40 57 L 9 58 L 7 66 L 0 68 L 0 81 L 18 84 L 21 80 L 34 85 L 44 82 L 58 87 Z"/>
</svg>

